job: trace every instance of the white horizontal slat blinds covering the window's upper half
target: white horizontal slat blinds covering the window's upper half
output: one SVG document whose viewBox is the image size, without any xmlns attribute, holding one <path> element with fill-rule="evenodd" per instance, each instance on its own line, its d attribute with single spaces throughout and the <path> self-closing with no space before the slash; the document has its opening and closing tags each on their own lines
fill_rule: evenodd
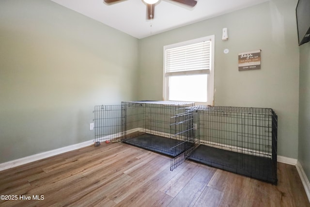
<svg viewBox="0 0 310 207">
<path fill-rule="evenodd" d="M 165 74 L 210 74 L 211 41 L 165 50 Z"/>
</svg>

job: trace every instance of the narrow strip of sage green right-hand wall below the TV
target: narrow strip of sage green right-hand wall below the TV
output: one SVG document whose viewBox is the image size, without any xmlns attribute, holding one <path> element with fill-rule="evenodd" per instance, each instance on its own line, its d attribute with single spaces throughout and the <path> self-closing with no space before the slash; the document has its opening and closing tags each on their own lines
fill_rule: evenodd
<svg viewBox="0 0 310 207">
<path fill-rule="evenodd" d="M 298 161 L 310 179 L 310 42 L 300 46 Z"/>
</svg>

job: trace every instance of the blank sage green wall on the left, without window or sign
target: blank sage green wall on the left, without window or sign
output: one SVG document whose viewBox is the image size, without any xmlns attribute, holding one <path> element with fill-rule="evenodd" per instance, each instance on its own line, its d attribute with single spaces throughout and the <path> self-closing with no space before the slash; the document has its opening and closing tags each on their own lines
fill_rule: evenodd
<svg viewBox="0 0 310 207">
<path fill-rule="evenodd" d="M 50 0 L 0 1 L 0 163 L 89 141 L 137 99 L 138 39 Z"/>
</svg>

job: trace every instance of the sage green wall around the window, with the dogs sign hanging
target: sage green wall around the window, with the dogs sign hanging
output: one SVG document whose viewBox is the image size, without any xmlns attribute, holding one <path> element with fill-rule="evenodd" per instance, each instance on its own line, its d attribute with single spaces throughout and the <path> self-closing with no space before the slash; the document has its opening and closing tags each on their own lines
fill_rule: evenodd
<svg viewBox="0 0 310 207">
<path fill-rule="evenodd" d="M 271 0 L 141 39 L 139 99 L 162 99 L 163 46 L 215 34 L 215 105 L 274 109 L 279 116 L 278 155 L 297 159 L 296 4 L 297 0 Z M 221 40 L 224 27 L 226 42 Z M 262 69 L 239 72 L 238 53 L 256 49 L 262 49 Z"/>
</svg>

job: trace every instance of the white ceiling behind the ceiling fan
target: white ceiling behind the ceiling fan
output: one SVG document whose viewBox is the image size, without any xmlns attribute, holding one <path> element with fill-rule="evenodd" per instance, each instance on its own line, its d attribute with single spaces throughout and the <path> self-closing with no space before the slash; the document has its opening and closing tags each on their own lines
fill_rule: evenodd
<svg viewBox="0 0 310 207">
<path fill-rule="evenodd" d="M 146 19 L 146 4 L 142 0 L 113 4 L 103 0 L 52 1 L 140 39 L 268 0 L 197 0 L 193 8 L 172 0 L 159 0 L 153 20 Z"/>
</svg>

